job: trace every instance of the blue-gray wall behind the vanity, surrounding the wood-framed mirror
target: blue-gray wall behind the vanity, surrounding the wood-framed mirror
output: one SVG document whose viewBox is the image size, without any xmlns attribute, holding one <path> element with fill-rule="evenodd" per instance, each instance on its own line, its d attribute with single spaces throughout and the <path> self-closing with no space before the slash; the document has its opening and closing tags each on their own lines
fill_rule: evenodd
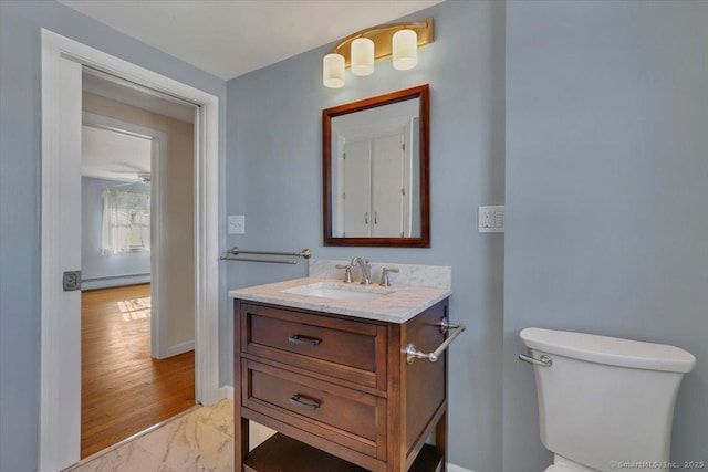
<svg viewBox="0 0 708 472">
<path fill-rule="evenodd" d="M 227 211 L 247 217 L 247 233 L 229 245 L 452 265 L 451 318 L 470 329 L 451 350 L 450 460 L 478 472 L 501 469 L 503 237 L 477 232 L 477 207 L 503 203 L 503 8 L 448 1 L 417 13 L 435 18 L 436 40 L 409 72 L 384 60 L 373 76 L 347 73 L 344 88 L 325 88 L 321 48 L 228 82 Z M 423 83 L 431 91 L 431 248 L 324 248 L 322 109 Z M 305 265 L 232 262 L 228 286 L 304 276 Z M 231 363 L 221 368 L 230 379 Z"/>
</svg>

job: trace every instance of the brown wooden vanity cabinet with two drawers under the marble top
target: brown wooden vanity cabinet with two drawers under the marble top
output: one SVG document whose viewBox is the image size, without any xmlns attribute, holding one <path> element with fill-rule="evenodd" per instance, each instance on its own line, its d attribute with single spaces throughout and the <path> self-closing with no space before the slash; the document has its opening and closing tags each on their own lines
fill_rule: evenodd
<svg viewBox="0 0 708 472">
<path fill-rule="evenodd" d="M 235 301 L 236 470 L 444 471 L 447 298 L 406 323 Z M 249 452 L 249 420 L 279 433 Z M 434 433 L 435 445 L 425 444 Z"/>
</svg>

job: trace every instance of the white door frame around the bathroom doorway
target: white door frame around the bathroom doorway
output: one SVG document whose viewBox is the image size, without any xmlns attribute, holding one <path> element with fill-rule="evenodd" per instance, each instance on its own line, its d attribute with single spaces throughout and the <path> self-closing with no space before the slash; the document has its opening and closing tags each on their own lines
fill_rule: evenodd
<svg viewBox="0 0 708 472">
<path fill-rule="evenodd" d="M 62 59 L 104 71 L 136 84 L 180 97 L 199 106 L 195 122 L 195 339 L 196 398 L 201 403 L 219 399 L 219 335 L 218 335 L 218 134 L 219 101 L 216 96 L 185 85 L 117 59 L 85 44 L 42 29 L 42 270 L 41 270 L 41 354 L 40 354 L 40 444 L 39 470 L 56 471 L 70 465 L 62 463 L 65 444 L 75 444 L 72 428 L 62 424 L 60 415 L 66 407 L 62 396 L 81 396 L 81 369 L 75 363 L 59 363 L 58 353 L 72 348 L 62 342 L 59 319 L 77 314 L 62 313 L 61 281 L 56 274 L 72 268 L 61 268 L 61 248 L 56 238 L 56 212 L 60 206 L 61 153 L 61 87 L 59 74 Z M 75 269 L 75 268 L 74 268 Z M 76 346 L 73 346 L 76 349 Z M 72 377 L 73 376 L 73 377 Z M 80 378 L 80 377 L 79 377 Z M 66 385 L 69 384 L 69 385 Z M 81 415 L 76 411 L 75 415 Z M 72 447 L 73 448 L 73 447 Z M 71 451 L 79 461 L 80 451 Z"/>
</svg>

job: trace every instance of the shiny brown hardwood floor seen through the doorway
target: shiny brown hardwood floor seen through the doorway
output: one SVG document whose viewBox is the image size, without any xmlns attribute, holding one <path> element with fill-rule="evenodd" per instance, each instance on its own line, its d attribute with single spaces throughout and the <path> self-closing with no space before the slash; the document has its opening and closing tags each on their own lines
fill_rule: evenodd
<svg viewBox="0 0 708 472">
<path fill-rule="evenodd" d="M 194 350 L 150 358 L 149 296 L 149 284 L 82 293 L 82 458 L 195 405 Z"/>
</svg>

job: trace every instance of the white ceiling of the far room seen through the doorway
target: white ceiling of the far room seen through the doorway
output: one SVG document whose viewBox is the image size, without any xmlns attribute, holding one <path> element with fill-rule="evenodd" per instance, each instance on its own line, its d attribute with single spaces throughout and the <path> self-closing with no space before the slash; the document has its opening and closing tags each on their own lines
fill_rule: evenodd
<svg viewBox="0 0 708 472">
<path fill-rule="evenodd" d="M 150 171 L 152 140 L 84 125 L 81 175 L 107 180 L 139 181 Z"/>
</svg>

